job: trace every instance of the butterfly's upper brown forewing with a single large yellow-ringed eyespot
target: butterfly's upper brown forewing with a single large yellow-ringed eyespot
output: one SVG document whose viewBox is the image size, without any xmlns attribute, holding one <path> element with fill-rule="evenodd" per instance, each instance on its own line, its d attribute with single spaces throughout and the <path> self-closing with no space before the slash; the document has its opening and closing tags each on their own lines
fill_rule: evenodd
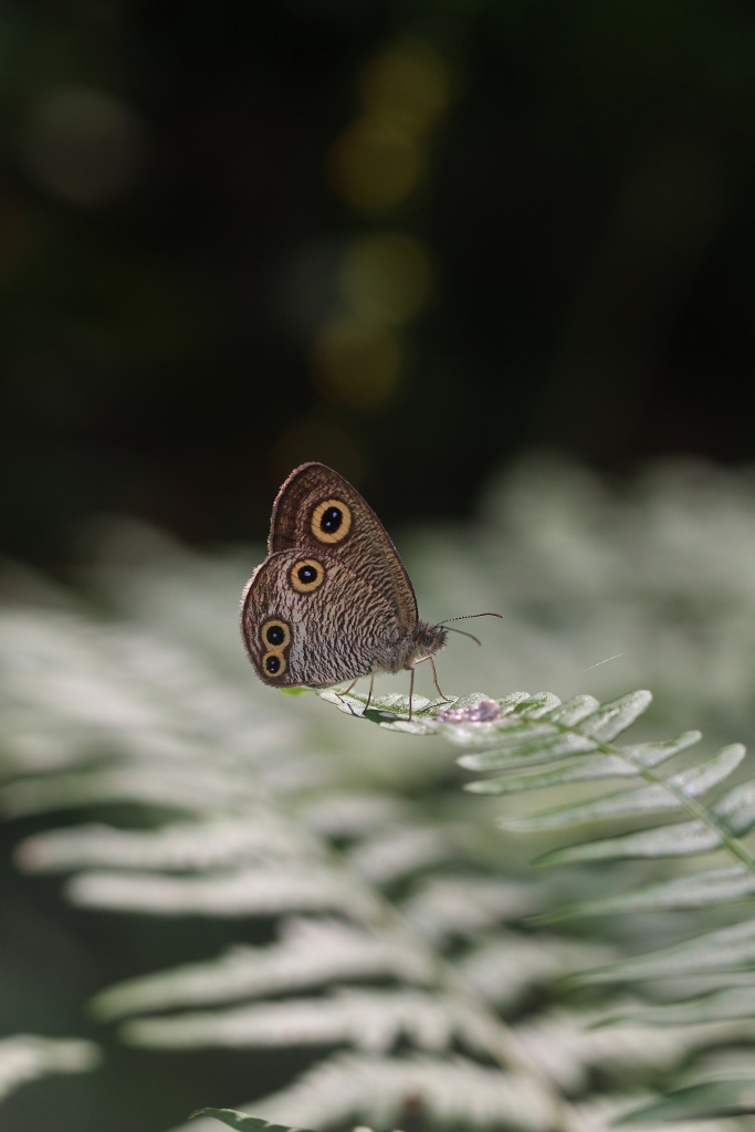
<svg viewBox="0 0 755 1132">
<path fill-rule="evenodd" d="M 387 531 L 359 491 L 325 464 L 301 464 L 277 494 L 268 550 L 293 548 L 327 552 L 351 572 L 355 624 L 368 616 L 369 590 L 370 602 L 394 610 L 394 636 L 417 625 L 412 583 Z"/>
</svg>

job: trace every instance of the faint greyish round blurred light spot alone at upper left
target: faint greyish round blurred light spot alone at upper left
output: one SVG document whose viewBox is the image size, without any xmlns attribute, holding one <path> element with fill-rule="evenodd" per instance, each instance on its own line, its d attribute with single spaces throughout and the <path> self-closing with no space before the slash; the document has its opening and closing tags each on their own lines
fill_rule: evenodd
<svg viewBox="0 0 755 1132">
<path fill-rule="evenodd" d="M 112 96 L 63 88 L 32 111 L 22 149 L 29 172 L 50 192 L 75 204 L 98 204 L 114 197 L 132 174 L 139 128 Z"/>
</svg>

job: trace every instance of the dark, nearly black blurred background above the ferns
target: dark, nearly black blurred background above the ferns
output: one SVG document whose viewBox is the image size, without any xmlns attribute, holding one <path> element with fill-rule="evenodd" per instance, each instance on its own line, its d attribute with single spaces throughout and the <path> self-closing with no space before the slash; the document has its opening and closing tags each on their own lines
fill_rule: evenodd
<svg viewBox="0 0 755 1132">
<path fill-rule="evenodd" d="M 750 2 L 6 0 L 0 31 L 5 552 L 54 566 L 102 511 L 259 537 L 306 458 L 388 525 L 532 446 L 752 458 Z"/>
</svg>

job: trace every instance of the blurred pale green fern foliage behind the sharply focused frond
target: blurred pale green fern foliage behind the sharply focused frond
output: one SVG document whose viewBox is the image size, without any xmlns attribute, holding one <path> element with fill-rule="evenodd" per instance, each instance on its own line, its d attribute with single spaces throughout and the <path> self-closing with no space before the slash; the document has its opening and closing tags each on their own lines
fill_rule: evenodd
<svg viewBox="0 0 755 1132">
<path fill-rule="evenodd" d="M 746 477 L 659 468 L 616 496 L 578 469 L 532 462 L 483 515 L 397 538 L 423 616 L 506 617 L 478 623 L 482 650 L 454 638 L 444 686 L 604 695 L 640 671 L 660 704 L 637 741 L 697 724 L 715 741 L 750 737 Z M 525 873 L 558 830 L 498 830 L 514 796 L 463 794 L 439 738 L 386 734 L 254 680 L 235 618 L 261 549 L 198 558 L 132 524 L 97 538 L 78 595 L 6 573 L 0 800 L 22 835 L 18 865 L 69 874 L 75 931 L 102 925 L 80 938 L 102 971 L 92 1032 L 108 1063 L 81 1081 L 95 1097 L 128 1094 L 108 1106 L 112 1132 L 136 1121 L 162 1132 L 218 1092 L 304 1126 L 398 1125 L 420 1096 L 432 1126 L 601 1129 L 637 1107 L 629 1090 L 650 1100 L 690 1061 L 700 1075 L 717 1048 L 748 1049 L 749 1018 L 722 1007 L 661 1027 L 642 1017 L 642 984 L 598 977 L 620 960 L 634 983 L 629 963 L 643 960 L 629 954 L 738 931 L 736 906 L 669 916 L 651 901 L 537 926 L 532 914 L 658 883 L 653 861 Z M 557 798 L 582 789 L 557 784 Z M 610 815 L 597 816 L 604 838 Z M 96 954 L 109 932 L 117 962 Z M 597 977 L 561 981 L 577 971 Z M 662 997 L 684 990 L 664 978 Z M 592 1028 L 608 1018 L 620 1021 Z M 128 1088 L 135 1064 L 147 1110 L 144 1088 Z M 165 1064 L 187 1067 L 171 1082 Z"/>
</svg>

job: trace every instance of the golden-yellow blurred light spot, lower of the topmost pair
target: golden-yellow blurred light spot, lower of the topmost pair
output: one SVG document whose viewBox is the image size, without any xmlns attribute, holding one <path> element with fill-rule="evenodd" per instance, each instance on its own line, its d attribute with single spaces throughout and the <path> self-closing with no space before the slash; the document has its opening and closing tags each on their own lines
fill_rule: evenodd
<svg viewBox="0 0 755 1132">
<path fill-rule="evenodd" d="M 328 172 L 336 191 L 352 208 L 391 208 L 409 196 L 423 171 L 413 137 L 362 118 L 336 138 Z"/>
</svg>

